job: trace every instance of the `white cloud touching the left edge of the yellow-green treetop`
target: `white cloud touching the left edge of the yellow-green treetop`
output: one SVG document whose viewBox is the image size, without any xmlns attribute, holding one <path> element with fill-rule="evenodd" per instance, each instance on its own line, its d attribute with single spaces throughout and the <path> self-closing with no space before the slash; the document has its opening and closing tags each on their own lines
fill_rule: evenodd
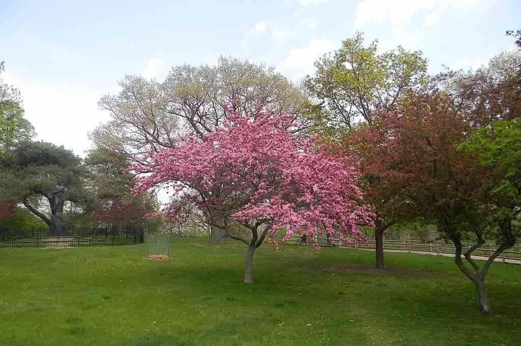
<svg viewBox="0 0 521 346">
<path fill-rule="evenodd" d="M 295 79 L 302 78 L 306 74 L 313 73 L 315 60 L 333 48 L 334 41 L 311 39 L 307 48 L 290 50 L 289 55 L 280 63 L 278 69 Z"/>
</svg>

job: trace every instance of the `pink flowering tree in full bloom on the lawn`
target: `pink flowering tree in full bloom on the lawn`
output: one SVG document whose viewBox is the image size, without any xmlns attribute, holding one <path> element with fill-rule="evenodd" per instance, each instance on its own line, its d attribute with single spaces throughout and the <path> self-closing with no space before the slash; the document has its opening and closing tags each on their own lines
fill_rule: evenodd
<svg viewBox="0 0 521 346">
<path fill-rule="evenodd" d="M 195 206 L 210 225 L 243 241 L 244 284 L 252 284 L 254 251 L 266 238 L 278 249 L 277 232 L 282 242 L 294 234 L 349 242 L 359 236 L 359 224 L 373 225 L 349 161 L 319 150 L 313 139 L 292 135 L 290 127 L 291 117 L 284 115 L 231 114 L 215 132 L 189 135 L 131 166 L 147 173 L 138 177 L 135 192 L 169 186 L 167 218 L 182 221 Z M 231 223 L 248 232 L 227 232 Z"/>
</svg>

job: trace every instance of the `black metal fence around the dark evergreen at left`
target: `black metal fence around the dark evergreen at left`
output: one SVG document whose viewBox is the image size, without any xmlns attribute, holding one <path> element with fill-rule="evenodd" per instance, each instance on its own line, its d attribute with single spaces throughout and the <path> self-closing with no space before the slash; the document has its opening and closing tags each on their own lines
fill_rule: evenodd
<svg viewBox="0 0 521 346">
<path fill-rule="evenodd" d="M 47 229 L 0 228 L 0 248 L 70 248 L 142 244 L 142 229 L 75 228 L 63 232 Z"/>
</svg>

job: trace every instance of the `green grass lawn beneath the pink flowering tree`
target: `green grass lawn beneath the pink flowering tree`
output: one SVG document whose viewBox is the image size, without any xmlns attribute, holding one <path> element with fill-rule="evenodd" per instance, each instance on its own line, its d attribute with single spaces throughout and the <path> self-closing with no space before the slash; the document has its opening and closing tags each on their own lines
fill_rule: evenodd
<svg viewBox="0 0 521 346">
<path fill-rule="evenodd" d="M 0 249 L 0 345 L 521 345 L 521 266 L 492 265 L 492 316 L 452 259 L 268 244 Z"/>
</svg>

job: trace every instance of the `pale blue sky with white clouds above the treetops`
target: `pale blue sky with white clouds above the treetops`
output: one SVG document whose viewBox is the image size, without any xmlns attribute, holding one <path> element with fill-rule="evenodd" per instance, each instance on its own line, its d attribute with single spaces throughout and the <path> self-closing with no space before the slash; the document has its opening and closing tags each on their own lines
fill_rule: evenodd
<svg viewBox="0 0 521 346">
<path fill-rule="evenodd" d="M 21 91 L 38 137 L 85 156 L 98 109 L 126 74 L 162 81 L 173 66 L 220 55 L 274 66 L 297 81 L 356 31 L 379 51 L 422 50 L 429 72 L 477 68 L 514 49 L 518 0 L 0 0 L 4 80 Z"/>
</svg>

